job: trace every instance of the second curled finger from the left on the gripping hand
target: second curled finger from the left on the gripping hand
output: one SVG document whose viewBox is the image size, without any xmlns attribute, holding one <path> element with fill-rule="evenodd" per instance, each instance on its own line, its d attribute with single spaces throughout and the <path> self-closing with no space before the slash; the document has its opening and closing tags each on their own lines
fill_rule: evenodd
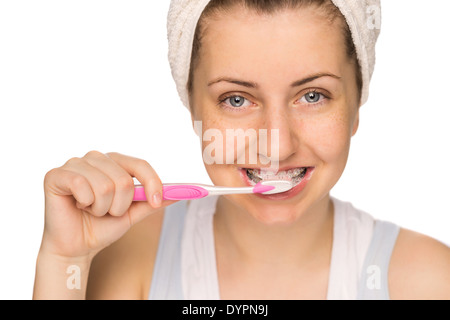
<svg viewBox="0 0 450 320">
<path fill-rule="evenodd" d="M 72 158 L 64 168 L 84 176 L 94 192 L 94 202 L 84 210 L 97 217 L 107 214 L 114 197 L 114 182 L 84 159 Z"/>
</svg>

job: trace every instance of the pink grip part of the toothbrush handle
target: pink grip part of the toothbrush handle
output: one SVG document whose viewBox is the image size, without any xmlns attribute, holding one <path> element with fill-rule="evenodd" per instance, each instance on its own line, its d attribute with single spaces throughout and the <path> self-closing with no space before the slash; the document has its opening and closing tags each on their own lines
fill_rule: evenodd
<svg viewBox="0 0 450 320">
<path fill-rule="evenodd" d="M 206 189 L 188 184 L 163 186 L 163 200 L 194 200 L 208 194 Z M 143 186 L 135 186 L 133 201 L 147 201 Z"/>
</svg>

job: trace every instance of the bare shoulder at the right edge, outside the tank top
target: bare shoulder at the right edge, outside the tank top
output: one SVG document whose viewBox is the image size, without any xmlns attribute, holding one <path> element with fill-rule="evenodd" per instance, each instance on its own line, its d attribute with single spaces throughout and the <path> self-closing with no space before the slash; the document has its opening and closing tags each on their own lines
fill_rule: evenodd
<svg viewBox="0 0 450 320">
<path fill-rule="evenodd" d="M 450 299 L 450 248 L 423 234 L 400 229 L 389 267 L 392 299 Z"/>
</svg>

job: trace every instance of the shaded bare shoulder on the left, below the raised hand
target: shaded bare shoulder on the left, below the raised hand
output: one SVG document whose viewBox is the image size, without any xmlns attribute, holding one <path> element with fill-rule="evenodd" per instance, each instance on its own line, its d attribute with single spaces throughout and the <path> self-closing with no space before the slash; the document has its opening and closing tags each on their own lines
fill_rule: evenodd
<svg viewBox="0 0 450 320">
<path fill-rule="evenodd" d="M 164 211 L 152 213 L 96 255 L 89 272 L 88 299 L 147 299 Z"/>
</svg>

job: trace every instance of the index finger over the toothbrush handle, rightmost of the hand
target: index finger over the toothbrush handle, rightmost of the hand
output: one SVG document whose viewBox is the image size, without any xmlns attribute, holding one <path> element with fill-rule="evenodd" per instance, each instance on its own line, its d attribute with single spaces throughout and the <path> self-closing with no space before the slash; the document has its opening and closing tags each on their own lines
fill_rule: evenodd
<svg viewBox="0 0 450 320">
<path fill-rule="evenodd" d="M 162 182 L 156 171 L 147 161 L 116 152 L 107 153 L 106 155 L 142 183 L 147 201 L 153 208 L 161 207 Z"/>
</svg>

